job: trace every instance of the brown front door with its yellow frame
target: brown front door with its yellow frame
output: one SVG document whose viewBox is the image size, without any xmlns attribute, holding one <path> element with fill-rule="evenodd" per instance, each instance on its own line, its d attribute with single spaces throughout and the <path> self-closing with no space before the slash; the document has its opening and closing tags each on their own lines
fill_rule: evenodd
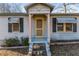
<svg viewBox="0 0 79 59">
<path fill-rule="evenodd" d="M 38 18 L 35 20 L 35 34 L 36 37 L 42 37 L 44 32 L 44 20 L 42 18 Z"/>
</svg>

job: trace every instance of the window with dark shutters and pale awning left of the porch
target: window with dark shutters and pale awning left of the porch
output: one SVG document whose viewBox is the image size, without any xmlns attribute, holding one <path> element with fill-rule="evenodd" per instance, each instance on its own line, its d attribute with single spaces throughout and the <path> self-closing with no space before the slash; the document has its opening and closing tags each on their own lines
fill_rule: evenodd
<svg viewBox="0 0 79 59">
<path fill-rule="evenodd" d="M 8 21 L 8 32 L 23 32 L 23 18 L 8 18 Z"/>
</svg>

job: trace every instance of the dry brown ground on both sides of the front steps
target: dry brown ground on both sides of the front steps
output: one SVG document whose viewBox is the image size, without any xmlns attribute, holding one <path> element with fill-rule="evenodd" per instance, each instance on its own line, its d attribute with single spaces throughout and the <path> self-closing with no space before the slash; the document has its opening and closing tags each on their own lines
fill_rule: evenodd
<svg viewBox="0 0 79 59">
<path fill-rule="evenodd" d="M 51 45 L 52 56 L 79 56 L 79 44 Z M 28 48 L 0 49 L 0 56 L 27 56 Z"/>
</svg>

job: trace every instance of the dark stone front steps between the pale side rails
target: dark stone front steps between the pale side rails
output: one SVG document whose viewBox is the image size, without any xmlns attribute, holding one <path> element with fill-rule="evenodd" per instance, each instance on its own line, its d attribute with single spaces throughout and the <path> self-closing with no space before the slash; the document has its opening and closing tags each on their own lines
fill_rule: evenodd
<svg viewBox="0 0 79 59">
<path fill-rule="evenodd" d="M 36 46 L 34 46 L 36 45 Z M 45 43 L 36 43 L 33 45 L 32 55 L 33 56 L 46 56 L 46 45 Z"/>
</svg>

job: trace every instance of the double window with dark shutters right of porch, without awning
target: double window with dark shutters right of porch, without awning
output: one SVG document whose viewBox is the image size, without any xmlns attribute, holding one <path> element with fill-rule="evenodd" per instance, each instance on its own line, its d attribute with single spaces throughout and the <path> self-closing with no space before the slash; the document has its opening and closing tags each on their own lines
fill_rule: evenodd
<svg viewBox="0 0 79 59">
<path fill-rule="evenodd" d="M 53 32 L 77 32 L 77 23 L 58 23 L 57 18 L 52 20 Z"/>
</svg>

